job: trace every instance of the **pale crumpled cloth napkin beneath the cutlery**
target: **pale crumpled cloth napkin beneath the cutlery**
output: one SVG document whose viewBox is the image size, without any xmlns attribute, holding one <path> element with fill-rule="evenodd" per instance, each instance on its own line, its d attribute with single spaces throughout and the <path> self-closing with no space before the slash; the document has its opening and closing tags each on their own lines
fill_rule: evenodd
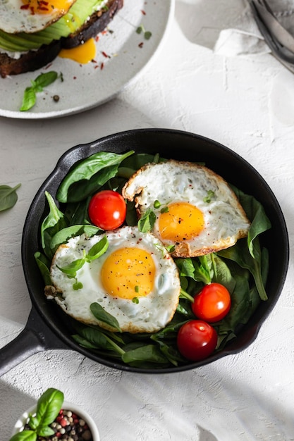
<svg viewBox="0 0 294 441">
<path fill-rule="evenodd" d="M 268 4 L 281 25 L 294 35 L 294 0 L 268 0 Z M 233 24 L 233 27 L 219 33 L 214 52 L 224 56 L 267 54 L 271 52 L 259 32 L 249 4 Z"/>
</svg>

